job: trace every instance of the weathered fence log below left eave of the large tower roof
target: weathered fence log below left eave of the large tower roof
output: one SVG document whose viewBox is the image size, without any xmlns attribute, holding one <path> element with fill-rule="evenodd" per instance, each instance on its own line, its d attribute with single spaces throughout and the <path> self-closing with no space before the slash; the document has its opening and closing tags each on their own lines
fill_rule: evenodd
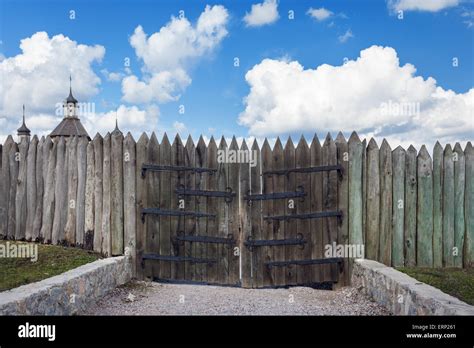
<svg viewBox="0 0 474 348">
<path fill-rule="evenodd" d="M 70 142 L 71 140 L 68 140 Z M 68 196 L 68 159 L 66 139 L 59 137 L 55 139 L 57 142 L 56 149 L 56 171 L 54 174 L 54 219 L 51 235 L 51 243 L 58 244 L 64 241 L 64 227 L 66 226 L 66 218 L 69 203 Z"/>
</svg>

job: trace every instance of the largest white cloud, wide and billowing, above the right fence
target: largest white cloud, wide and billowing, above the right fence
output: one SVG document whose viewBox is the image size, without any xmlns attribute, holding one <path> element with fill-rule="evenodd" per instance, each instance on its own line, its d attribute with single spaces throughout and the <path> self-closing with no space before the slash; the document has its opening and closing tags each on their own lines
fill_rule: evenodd
<svg viewBox="0 0 474 348">
<path fill-rule="evenodd" d="M 411 64 L 400 66 L 391 47 L 372 46 L 357 60 L 316 69 L 265 59 L 245 75 L 250 93 L 239 123 L 256 136 L 357 130 L 397 142 L 471 139 L 474 88 L 457 94 L 415 73 Z M 384 108 L 390 103 L 398 111 Z"/>
</svg>

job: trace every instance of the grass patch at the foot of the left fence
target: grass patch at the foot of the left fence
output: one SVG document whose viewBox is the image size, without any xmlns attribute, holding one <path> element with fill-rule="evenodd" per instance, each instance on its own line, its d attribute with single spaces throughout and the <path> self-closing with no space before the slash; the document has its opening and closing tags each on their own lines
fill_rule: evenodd
<svg viewBox="0 0 474 348">
<path fill-rule="evenodd" d="M 1 241 L 6 248 L 6 241 Z M 25 242 L 9 242 L 9 245 L 37 245 L 38 259 L 0 257 L 0 291 L 16 288 L 46 279 L 86 263 L 95 261 L 100 256 L 92 251 L 66 248 L 57 245 L 45 245 Z"/>
</svg>

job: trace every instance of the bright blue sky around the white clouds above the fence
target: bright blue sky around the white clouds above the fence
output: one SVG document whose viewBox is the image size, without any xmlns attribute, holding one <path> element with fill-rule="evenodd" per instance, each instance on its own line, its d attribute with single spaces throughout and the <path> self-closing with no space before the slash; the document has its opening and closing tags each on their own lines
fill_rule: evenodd
<svg viewBox="0 0 474 348">
<path fill-rule="evenodd" d="M 83 94 L 88 102 L 94 102 L 98 113 L 110 112 L 120 105 L 136 106 L 139 109 L 155 105 L 159 108 L 159 117 L 150 119 L 151 123 L 146 122 L 146 129 L 143 130 L 172 132 L 179 123 L 181 125 L 178 127 L 179 130 L 184 133 L 189 132 L 193 136 L 199 134 L 231 136 L 235 134 L 241 137 L 253 135 L 272 137 L 301 133 L 309 135 L 315 131 L 324 134 L 328 130 L 335 131 L 327 129 L 327 124 L 325 126 L 321 124 L 321 127 L 318 127 L 319 123 L 315 120 L 315 127 L 309 127 L 310 129 L 295 121 L 289 125 L 287 132 L 281 132 L 280 128 L 272 125 L 266 119 L 270 122 L 268 124 L 270 131 L 265 133 L 252 127 L 252 122 L 263 120 L 256 114 L 249 116 L 252 120 L 247 124 L 239 122 L 239 115 L 249 105 L 245 101 L 245 97 L 251 94 L 251 87 L 258 88 L 256 85 L 249 84 L 245 75 L 256 65 L 262 63 L 264 59 L 279 62 L 296 61 L 304 69 L 316 69 L 322 64 L 341 66 L 345 57 L 348 60 L 356 60 L 362 50 L 373 45 L 388 46 L 395 50 L 400 66 L 409 63 L 416 68 L 416 72 L 413 73 L 414 77 L 421 76 L 424 80 L 432 77 L 436 80 L 437 87 L 441 87 L 445 91 L 452 90 L 456 95 L 472 99 L 472 94 L 467 95 L 473 88 L 474 81 L 474 28 L 472 27 L 474 6 L 472 2 L 456 2 L 457 4 L 438 11 L 406 9 L 403 11 L 404 18 L 400 20 L 397 18 L 397 13 L 390 9 L 391 5 L 383 0 L 280 0 L 277 3 L 278 20 L 261 26 L 246 26 L 243 17 L 246 13 L 250 13 L 253 4 L 260 2 L 263 0 L 1 0 L 0 37 L 2 43 L 0 52 L 3 59 L 21 55 L 20 41 L 41 31 L 45 31 L 49 38 L 62 34 L 77 44 L 103 46 L 105 53 L 102 60 L 90 64 L 92 71 L 100 78 L 100 83 L 96 85 L 98 91 L 89 95 L 78 91 L 79 97 L 82 97 L 81 94 Z M 129 57 L 131 61 L 130 73 L 137 76 L 138 79 L 146 79 L 146 73 L 143 73 L 143 60 L 137 57 L 134 47 L 129 42 L 135 28 L 141 25 L 147 35 L 159 32 L 160 28 L 169 23 L 171 16 L 179 16 L 180 10 L 184 11 L 190 24 L 195 25 L 206 5 L 225 7 L 229 16 L 225 23 L 227 35 L 212 50 L 185 64 L 184 69 L 192 82 L 179 92 L 179 99 L 176 98 L 177 100 L 169 102 L 152 101 L 146 103 L 124 101 L 122 82 L 120 80 L 108 81 L 103 71 L 106 69 L 108 72 L 123 73 L 124 59 Z M 307 14 L 309 8 L 324 8 L 330 11 L 331 15 L 324 20 L 317 20 Z M 75 11 L 76 18 L 74 20 L 69 18 L 70 10 Z M 294 11 L 295 18 L 293 20 L 288 18 L 288 11 Z M 347 32 L 352 33 L 352 37 L 341 42 L 340 37 Z M 233 65 L 235 57 L 239 58 L 239 67 Z M 457 67 L 453 67 L 454 57 L 459 62 Z M 65 75 L 67 73 L 58 74 L 61 79 L 64 79 Z M 361 78 L 363 79 L 363 77 Z M 74 79 L 76 77 L 73 76 L 73 86 Z M 390 81 L 387 80 L 388 83 Z M 66 85 L 63 97 L 66 97 L 67 80 L 64 82 Z M 278 81 L 275 81 L 276 83 Z M 348 79 L 347 85 L 351 85 L 351 83 L 353 81 Z M 360 81 L 354 82 L 353 89 L 347 93 L 356 95 L 359 84 Z M 324 86 L 320 86 L 320 88 L 324 90 Z M 317 91 L 316 89 L 315 93 Z M 394 94 L 394 98 L 390 97 L 390 100 L 393 99 L 396 102 L 395 96 L 396 94 Z M 263 98 L 265 95 L 259 95 L 259 97 Z M 278 98 L 281 99 L 281 95 L 278 95 Z M 422 118 L 431 117 L 429 114 L 431 109 L 428 106 L 433 102 L 429 98 L 425 99 L 421 103 L 426 105 L 428 110 L 426 116 L 423 112 L 421 113 Z M 331 102 L 333 99 L 328 97 L 328 100 Z M 13 102 L 13 100 L 10 101 Z M 3 101 L 4 104 L 8 102 Z M 15 102 L 20 103 L 21 101 L 16 100 Z M 28 100 L 24 102 L 28 105 Z M 285 103 L 285 101 L 280 102 Z M 288 102 L 302 103 L 301 107 L 305 107 L 304 101 Z M 376 99 L 376 103 L 379 105 L 380 99 Z M 365 99 L 359 104 L 366 104 Z M 360 108 L 359 104 L 355 108 Z M 456 104 L 457 106 L 453 107 L 453 110 L 458 110 L 459 103 Z M 184 114 L 178 112 L 180 105 L 185 106 Z M 469 115 L 472 116 L 471 106 L 472 104 L 467 104 L 467 111 L 462 111 L 467 113 L 468 126 Z M 449 105 L 443 107 L 448 107 L 447 110 L 449 110 Z M 7 109 L 5 105 L 4 109 Z M 51 106 L 50 109 L 53 114 L 54 106 Z M 18 107 L 18 110 L 21 110 L 21 107 Z M 278 112 L 277 108 L 264 111 L 268 111 L 269 114 Z M 34 112 L 32 110 L 32 113 Z M 47 113 L 47 108 L 38 112 Z M 370 114 L 373 115 L 372 112 Z M 4 117 L 7 119 L 5 122 L 7 125 L 14 123 L 14 115 Z M 292 117 L 293 115 L 288 115 L 288 118 Z M 312 120 L 316 119 L 318 114 L 309 114 L 305 117 Z M 453 117 L 457 116 L 453 115 Z M 417 120 L 419 121 L 419 119 Z M 263 122 L 267 121 L 263 120 Z M 357 129 L 357 125 L 352 128 L 368 135 L 393 136 L 394 141 L 398 140 L 403 143 L 406 136 L 416 126 L 413 122 L 418 121 L 411 120 L 402 125 L 394 122 L 397 124 L 396 126 L 406 128 L 405 135 L 394 136 L 390 131 L 387 131 L 388 128 L 381 129 L 374 126 L 372 129 L 370 121 L 362 122 L 359 129 Z M 433 126 L 434 128 L 440 128 L 438 121 Z M 466 122 L 466 114 L 463 122 Z M 126 123 L 126 125 L 128 124 Z M 472 126 L 472 119 L 470 125 Z M 418 124 L 418 126 L 420 125 Z M 343 129 L 346 133 L 351 130 Z M 95 133 L 94 130 L 89 130 L 89 132 Z M 469 127 L 467 133 L 461 131 L 449 134 L 436 133 L 436 135 L 444 136 L 446 141 L 456 139 L 456 136 L 459 140 L 473 138 L 472 128 L 469 129 Z M 430 140 L 432 139 L 426 137 L 427 142 Z"/>
</svg>

